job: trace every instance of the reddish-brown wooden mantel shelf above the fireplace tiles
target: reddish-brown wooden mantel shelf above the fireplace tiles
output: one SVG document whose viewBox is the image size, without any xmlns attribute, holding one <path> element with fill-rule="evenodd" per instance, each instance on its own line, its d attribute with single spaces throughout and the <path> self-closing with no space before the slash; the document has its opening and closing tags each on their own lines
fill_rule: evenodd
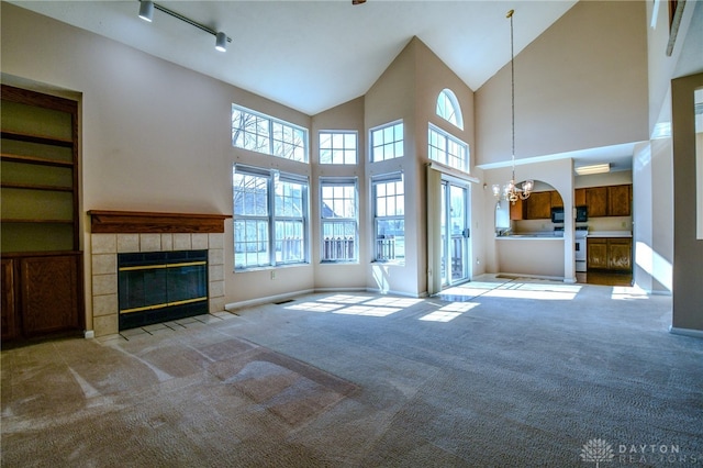
<svg viewBox="0 0 703 468">
<path fill-rule="evenodd" d="M 90 210 L 90 231 L 116 233 L 224 233 L 231 214 L 153 213 L 145 211 Z"/>
</svg>

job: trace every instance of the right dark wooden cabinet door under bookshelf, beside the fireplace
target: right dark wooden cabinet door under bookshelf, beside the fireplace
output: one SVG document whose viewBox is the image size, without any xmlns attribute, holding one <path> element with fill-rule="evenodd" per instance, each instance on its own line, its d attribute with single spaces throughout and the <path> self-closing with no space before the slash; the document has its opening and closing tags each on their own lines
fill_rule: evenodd
<svg viewBox="0 0 703 468">
<path fill-rule="evenodd" d="M 80 258 L 57 255 L 20 260 L 24 336 L 80 330 Z"/>
</svg>

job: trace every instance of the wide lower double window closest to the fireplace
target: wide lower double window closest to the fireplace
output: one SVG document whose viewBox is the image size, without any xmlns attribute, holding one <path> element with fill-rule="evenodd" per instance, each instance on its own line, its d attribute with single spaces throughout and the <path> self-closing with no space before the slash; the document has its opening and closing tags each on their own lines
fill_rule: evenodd
<svg viewBox="0 0 703 468">
<path fill-rule="evenodd" d="M 235 165 L 232 186 L 234 268 L 306 263 L 308 180 Z"/>
</svg>

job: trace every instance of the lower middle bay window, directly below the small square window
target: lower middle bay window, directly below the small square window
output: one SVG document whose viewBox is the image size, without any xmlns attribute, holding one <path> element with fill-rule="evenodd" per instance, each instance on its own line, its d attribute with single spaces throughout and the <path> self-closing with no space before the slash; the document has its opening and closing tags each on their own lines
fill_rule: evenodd
<svg viewBox="0 0 703 468">
<path fill-rule="evenodd" d="M 320 213 L 324 263 L 357 261 L 357 181 L 354 178 L 320 179 Z"/>
</svg>

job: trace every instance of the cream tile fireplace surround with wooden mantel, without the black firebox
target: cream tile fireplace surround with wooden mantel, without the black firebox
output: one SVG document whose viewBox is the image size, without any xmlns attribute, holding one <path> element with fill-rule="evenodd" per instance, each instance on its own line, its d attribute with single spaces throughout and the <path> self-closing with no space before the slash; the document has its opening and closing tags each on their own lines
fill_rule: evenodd
<svg viewBox="0 0 703 468">
<path fill-rule="evenodd" d="M 118 254 L 208 250 L 209 311 L 224 310 L 222 214 L 90 211 L 92 331 L 119 333 Z"/>
</svg>

